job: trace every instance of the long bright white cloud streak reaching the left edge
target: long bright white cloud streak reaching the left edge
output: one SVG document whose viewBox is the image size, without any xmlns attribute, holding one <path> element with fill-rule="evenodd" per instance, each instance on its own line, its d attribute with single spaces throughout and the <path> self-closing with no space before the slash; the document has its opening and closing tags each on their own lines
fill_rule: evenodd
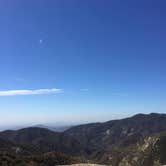
<svg viewBox="0 0 166 166">
<path fill-rule="evenodd" d="M 5 90 L 0 91 L 0 96 L 17 96 L 17 95 L 42 95 L 63 93 L 62 89 L 34 89 L 34 90 Z"/>
</svg>

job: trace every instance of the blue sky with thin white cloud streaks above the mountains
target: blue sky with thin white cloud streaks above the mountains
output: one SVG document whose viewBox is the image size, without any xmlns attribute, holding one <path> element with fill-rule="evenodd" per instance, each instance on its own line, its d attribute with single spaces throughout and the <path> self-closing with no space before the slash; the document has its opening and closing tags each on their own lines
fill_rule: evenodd
<svg viewBox="0 0 166 166">
<path fill-rule="evenodd" d="M 1 0 L 0 125 L 166 112 L 166 1 Z"/>
</svg>

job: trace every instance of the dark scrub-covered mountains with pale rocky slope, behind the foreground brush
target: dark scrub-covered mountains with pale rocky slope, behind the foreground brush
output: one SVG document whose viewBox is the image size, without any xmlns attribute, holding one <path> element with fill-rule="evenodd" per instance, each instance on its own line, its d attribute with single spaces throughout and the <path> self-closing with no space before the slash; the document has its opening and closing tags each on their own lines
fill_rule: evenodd
<svg viewBox="0 0 166 166">
<path fill-rule="evenodd" d="M 61 132 L 45 126 L 6 130 L 0 132 L 0 152 L 18 153 L 23 157 L 56 152 L 74 156 L 73 162 L 77 158 L 80 162 L 112 166 L 164 165 L 166 114 L 137 114 L 121 120 L 74 126 Z M 33 157 L 31 162 L 35 162 Z"/>
</svg>

